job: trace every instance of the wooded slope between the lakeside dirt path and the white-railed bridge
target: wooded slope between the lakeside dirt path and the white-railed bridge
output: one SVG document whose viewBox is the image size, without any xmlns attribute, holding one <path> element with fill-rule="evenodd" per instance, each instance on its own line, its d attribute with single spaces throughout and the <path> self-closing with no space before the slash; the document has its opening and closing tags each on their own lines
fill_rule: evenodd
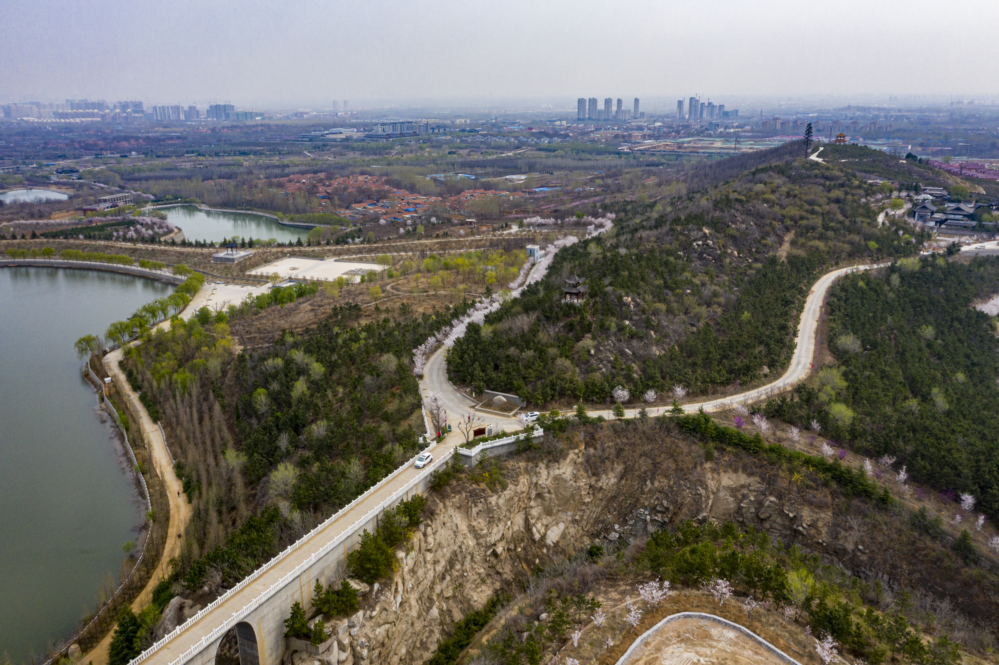
<svg viewBox="0 0 999 665">
<path fill-rule="evenodd" d="M 360 306 L 333 306 L 315 330 L 234 352 L 230 317 L 269 306 L 282 307 L 204 308 L 125 361 L 163 414 L 194 505 L 178 562 L 192 590 L 242 579 L 416 453 L 410 353 L 468 304 L 364 326 Z"/>
</svg>

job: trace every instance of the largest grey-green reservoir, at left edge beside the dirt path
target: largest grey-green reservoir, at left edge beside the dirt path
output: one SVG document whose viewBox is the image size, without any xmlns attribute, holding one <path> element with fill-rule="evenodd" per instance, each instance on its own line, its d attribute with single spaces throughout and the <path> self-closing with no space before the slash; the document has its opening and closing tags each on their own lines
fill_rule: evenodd
<svg viewBox="0 0 999 665">
<path fill-rule="evenodd" d="M 145 505 L 73 342 L 173 287 L 57 268 L 0 268 L 0 654 L 70 636 L 138 539 Z M 2 658 L 0 658 L 2 660 Z"/>
</svg>

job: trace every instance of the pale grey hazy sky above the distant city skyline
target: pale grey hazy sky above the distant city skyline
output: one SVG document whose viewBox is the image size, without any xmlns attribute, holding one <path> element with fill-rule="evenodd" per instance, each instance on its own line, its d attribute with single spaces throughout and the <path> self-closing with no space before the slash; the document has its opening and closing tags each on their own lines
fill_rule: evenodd
<svg viewBox="0 0 999 665">
<path fill-rule="evenodd" d="M 996 0 L 4 0 L 0 101 L 995 96 Z M 886 100 L 885 100 L 886 101 Z"/>
</svg>

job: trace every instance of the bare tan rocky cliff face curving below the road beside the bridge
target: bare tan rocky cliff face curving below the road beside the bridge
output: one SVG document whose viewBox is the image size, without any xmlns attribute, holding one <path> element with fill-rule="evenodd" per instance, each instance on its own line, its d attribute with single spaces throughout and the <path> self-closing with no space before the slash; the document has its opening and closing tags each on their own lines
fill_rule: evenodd
<svg viewBox="0 0 999 665">
<path fill-rule="evenodd" d="M 350 622 L 331 626 L 336 654 L 298 653 L 294 665 L 422 663 L 453 622 L 498 591 L 515 593 L 536 564 L 684 519 L 734 520 L 869 575 L 884 569 L 862 542 L 870 529 L 850 526 L 863 522 L 850 517 L 856 502 L 757 458 L 705 462 L 695 443 L 641 424 L 573 432 L 561 451 L 547 445 L 547 454 L 505 460 L 502 489 L 463 482 L 433 492 L 394 577 L 365 594 Z"/>
</svg>

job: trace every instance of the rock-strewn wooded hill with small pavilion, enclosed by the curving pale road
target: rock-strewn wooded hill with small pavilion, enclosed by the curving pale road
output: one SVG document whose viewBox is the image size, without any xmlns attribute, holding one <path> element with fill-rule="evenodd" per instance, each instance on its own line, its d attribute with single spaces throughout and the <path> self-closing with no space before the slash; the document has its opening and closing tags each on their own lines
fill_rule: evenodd
<svg viewBox="0 0 999 665">
<path fill-rule="evenodd" d="M 852 171 L 798 159 L 682 199 L 621 204 L 611 233 L 561 250 L 546 281 L 471 326 L 450 369 L 535 404 L 771 375 L 820 273 L 905 257 L 925 240 L 904 222 L 879 226 L 877 198 Z M 581 306 L 560 302 L 572 274 L 588 288 Z"/>
</svg>

